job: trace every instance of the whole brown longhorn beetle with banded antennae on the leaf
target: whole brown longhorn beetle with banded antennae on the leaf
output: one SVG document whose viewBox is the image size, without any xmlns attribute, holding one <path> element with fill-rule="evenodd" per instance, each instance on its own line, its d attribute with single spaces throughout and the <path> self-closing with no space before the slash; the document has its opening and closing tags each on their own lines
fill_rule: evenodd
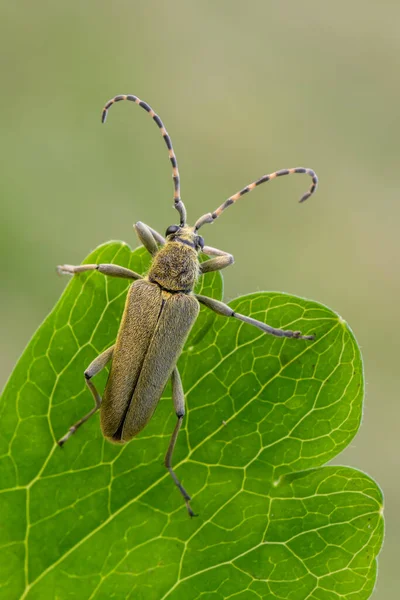
<svg viewBox="0 0 400 600">
<path fill-rule="evenodd" d="M 172 165 L 174 207 L 179 214 L 179 225 L 170 225 L 164 239 L 144 223 L 138 221 L 135 224 L 139 240 L 153 257 L 145 276 L 113 264 L 58 267 L 60 273 L 78 274 L 84 271 L 98 271 L 103 275 L 133 281 L 128 291 L 115 344 L 95 358 L 84 373 L 95 406 L 69 429 L 58 444 L 60 446 L 65 444 L 78 427 L 99 409 L 103 435 L 111 442 L 121 444 L 129 442 L 151 419 L 164 387 L 171 378 L 172 399 L 178 421 L 165 456 L 165 467 L 185 499 L 187 510 L 192 517 L 194 513 L 190 506 L 190 496 L 172 469 L 172 454 L 185 414 L 185 396 L 176 363 L 199 313 L 200 304 L 219 315 L 238 319 L 270 335 L 302 340 L 314 339 L 313 335 L 302 335 L 300 331 L 275 329 L 266 323 L 236 313 L 223 302 L 195 294 L 193 289 L 199 277 L 210 271 L 224 269 L 233 263 L 231 254 L 205 246 L 198 231 L 206 223 L 213 223 L 228 206 L 261 183 L 283 175 L 305 173 L 311 177 L 312 184 L 300 198 L 300 202 L 304 202 L 315 192 L 318 178 L 314 171 L 303 167 L 282 169 L 264 175 L 225 200 L 214 212 L 206 213 L 197 219 L 194 226 L 190 226 L 186 222 L 186 209 L 180 196 L 180 178 L 175 152 L 160 117 L 146 102 L 136 96 L 124 95 L 115 96 L 107 102 L 102 113 L 102 123 L 107 118 L 108 109 L 121 100 L 129 100 L 144 108 L 161 131 Z M 214 258 L 200 263 L 200 253 Z M 112 361 L 110 374 L 101 398 L 92 382 L 92 377 L 110 361 Z"/>
</svg>

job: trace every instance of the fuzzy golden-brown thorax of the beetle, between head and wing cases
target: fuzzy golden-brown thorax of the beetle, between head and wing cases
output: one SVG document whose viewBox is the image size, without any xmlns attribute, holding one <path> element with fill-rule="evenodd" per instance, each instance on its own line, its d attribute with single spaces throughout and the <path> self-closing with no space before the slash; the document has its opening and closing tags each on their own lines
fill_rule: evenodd
<svg viewBox="0 0 400 600">
<path fill-rule="evenodd" d="M 182 240 L 167 240 L 154 256 L 149 281 L 171 292 L 191 292 L 200 274 L 197 251 Z M 189 240 L 188 240 L 189 241 Z"/>
</svg>

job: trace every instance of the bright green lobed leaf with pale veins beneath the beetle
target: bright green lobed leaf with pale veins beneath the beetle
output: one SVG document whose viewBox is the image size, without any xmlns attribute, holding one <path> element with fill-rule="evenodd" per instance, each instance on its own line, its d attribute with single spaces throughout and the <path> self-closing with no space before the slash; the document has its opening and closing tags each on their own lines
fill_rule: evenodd
<svg viewBox="0 0 400 600">
<path fill-rule="evenodd" d="M 149 259 L 112 242 L 86 262 L 144 272 Z M 96 415 L 56 445 L 92 407 L 83 371 L 113 343 L 127 285 L 74 277 L 6 386 L 0 598 L 368 598 L 381 492 L 364 473 L 322 466 L 359 427 L 362 362 L 346 323 L 316 302 L 257 293 L 231 304 L 315 342 L 202 309 L 179 361 L 188 414 L 174 456 L 197 518 L 163 466 L 176 420 L 169 386 L 129 444 L 105 441 Z M 204 277 L 201 293 L 220 298 L 220 275 Z"/>
</svg>

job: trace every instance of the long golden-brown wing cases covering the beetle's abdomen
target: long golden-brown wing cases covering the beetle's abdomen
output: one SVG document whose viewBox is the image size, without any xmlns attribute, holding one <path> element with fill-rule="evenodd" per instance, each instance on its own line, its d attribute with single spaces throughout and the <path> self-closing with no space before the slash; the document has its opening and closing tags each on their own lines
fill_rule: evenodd
<svg viewBox="0 0 400 600">
<path fill-rule="evenodd" d="M 198 313 L 194 296 L 132 284 L 100 410 L 107 438 L 127 442 L 151 419 Z"/>
</svg>

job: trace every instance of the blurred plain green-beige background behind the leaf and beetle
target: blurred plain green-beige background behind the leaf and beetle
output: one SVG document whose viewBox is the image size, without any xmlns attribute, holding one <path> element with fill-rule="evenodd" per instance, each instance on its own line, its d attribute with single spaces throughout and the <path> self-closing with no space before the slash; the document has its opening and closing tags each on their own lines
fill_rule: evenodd
<svg viewBox="0 0 400 600">
<path fill-rule="evenodd" d="M 281 290 L 337 310 L 361 345 L 364 421 L 337 463 L 386 497 L 374 599 L 397 599 L 400 539 L 398 132 L 400 5 L 288 2 L 2 3 L 1 383 L 65 286 L 55 265 L 132 224 L 176 222 L 164 143 L 172 136 L 189 220 L 261 175 L 306 176 L 245 196 L 206 243 L 235 255 L 225 296 Z"/>
</svg>

